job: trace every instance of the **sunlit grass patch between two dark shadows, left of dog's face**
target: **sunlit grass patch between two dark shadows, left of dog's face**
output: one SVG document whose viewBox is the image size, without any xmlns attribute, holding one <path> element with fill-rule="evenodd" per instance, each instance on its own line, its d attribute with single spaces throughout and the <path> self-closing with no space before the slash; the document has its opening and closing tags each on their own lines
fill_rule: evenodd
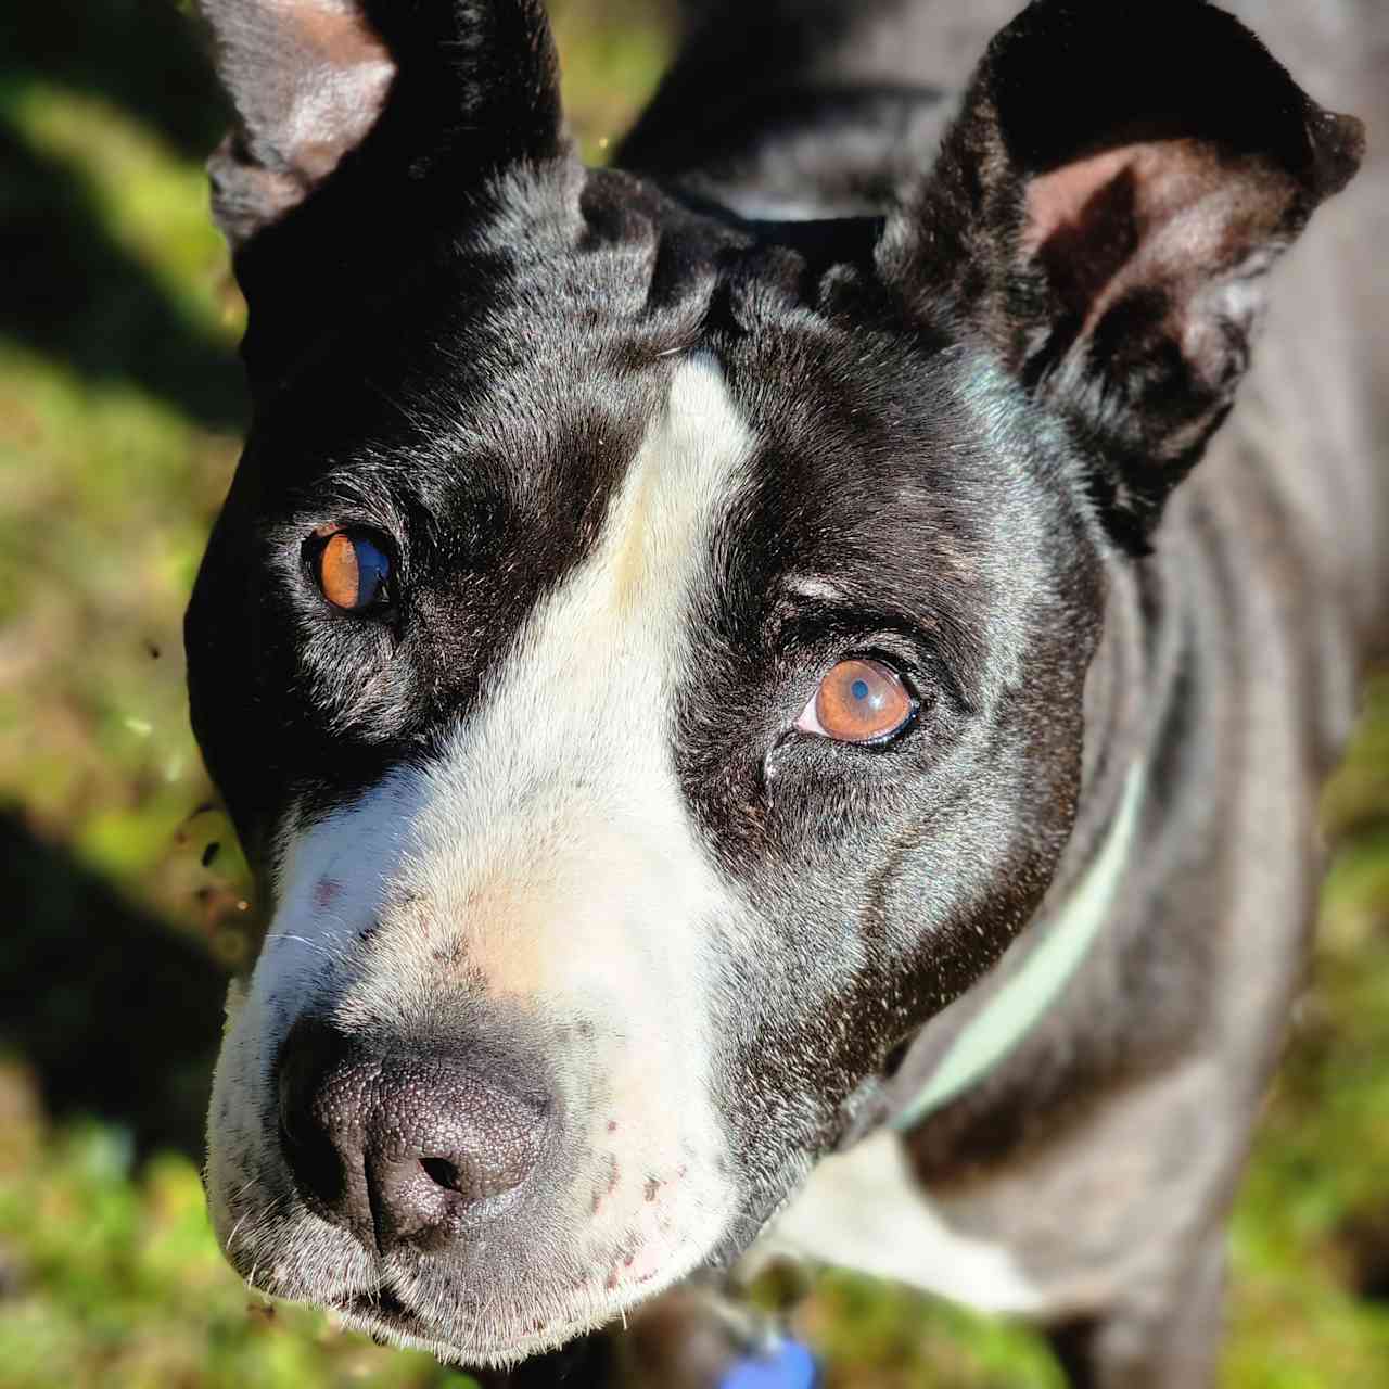
<svg viewBox="0 0 1389 1389">
<path fill-rule="evenodd" d="M 179 619 L 233 457 L 160 400 L 0 343 L 0 796 L 172 910 L 147 875 L 207 789 Z"/>
</svg>

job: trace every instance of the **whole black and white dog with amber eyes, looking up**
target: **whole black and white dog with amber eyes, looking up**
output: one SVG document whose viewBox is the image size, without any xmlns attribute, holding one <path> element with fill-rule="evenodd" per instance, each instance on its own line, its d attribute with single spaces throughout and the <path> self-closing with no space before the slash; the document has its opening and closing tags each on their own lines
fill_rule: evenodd
<svg viewBox="0 0 1389 1389">
<path fill-rule="evenodd" d="M 204 0 L 257 1288 L 504 1371 L 793 1250 L 1206 1381 L 1389 593 L 1389 185 L 1270 276 L 1360 121 L 1200 0 L 968 78 L 1014 8 L 692 4 L 589 169 L 540 0 Z M 1381 0 L 1243 8 L 1386 113 Z"/>
</svg>

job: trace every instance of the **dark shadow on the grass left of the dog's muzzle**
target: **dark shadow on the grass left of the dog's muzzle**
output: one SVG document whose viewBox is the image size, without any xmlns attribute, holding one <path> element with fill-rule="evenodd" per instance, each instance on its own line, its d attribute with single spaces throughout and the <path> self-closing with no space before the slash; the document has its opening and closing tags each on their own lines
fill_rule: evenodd
<svg viewBox="0 0 1389 1389">
<path fill-rule="evenodd" d="M 201 1161 L 222 971 L 0 813 L 0 1047 L 38 1076 L 47 1111 L 125 1125 L 140 1153 Z"/>
</svg>

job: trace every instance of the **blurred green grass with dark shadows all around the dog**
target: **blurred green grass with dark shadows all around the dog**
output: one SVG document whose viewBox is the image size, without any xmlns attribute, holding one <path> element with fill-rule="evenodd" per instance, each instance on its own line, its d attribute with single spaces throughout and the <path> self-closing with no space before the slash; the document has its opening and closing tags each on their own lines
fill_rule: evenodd
<svg viewBox="0 0 1389 1389">
<path fill-rule="evenodd" d="M 256 931 L 179 642 L 246 418 L 201 172 L 225 113 L 171 0 L 0 11 L 0 1383 L 467 1385 L 264 1307 L 208 1233 L 201 1110 Z M 660 10 L 554 11 L 600 158 Z M 1239 1389 L 1389 1383 L 1383 679 L 1324 818 L 1315 965 L 1232 1231 Z M 861 1279 L 797 1317 L 835 1386 L 1058 1383 L 1026 1332 Z"/>
</svg>

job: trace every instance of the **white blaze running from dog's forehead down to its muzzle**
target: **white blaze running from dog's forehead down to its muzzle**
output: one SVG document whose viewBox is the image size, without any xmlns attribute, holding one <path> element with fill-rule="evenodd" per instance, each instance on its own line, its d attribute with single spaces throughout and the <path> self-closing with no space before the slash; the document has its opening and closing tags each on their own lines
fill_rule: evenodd
<svg viewBox="0 0 1389 1389">
<path fill-rule="evenodd" d="M 276 1029 L 249 1047 L 264 1065 L 293 1021 L 268 1015 L 269 996 L 311 989 L 374 922 L 335 1007 L 349 1025 L 428 1018 L 460 988 L 594 1020 L 554 1061 L 561 1090 L 593 1101 L 565 1135 L 597 1164 L 571 1228 L 596 1257 L 632 1256 L 592 1270 L 614 1307 L 706 1257 L 735 1199 L 710 1097 L 710 978 L 738 901 L 699 843 L 671 745 L 713 528 L 750 456 L 717 364 L 681 364 L 593 554 L 538 606 L 444 753 L 290 853 L 218 1074 L 235 1106 L 256 1106 L 264 1072 L 229 1060 L 240 1039 Z"/>
</svg>

